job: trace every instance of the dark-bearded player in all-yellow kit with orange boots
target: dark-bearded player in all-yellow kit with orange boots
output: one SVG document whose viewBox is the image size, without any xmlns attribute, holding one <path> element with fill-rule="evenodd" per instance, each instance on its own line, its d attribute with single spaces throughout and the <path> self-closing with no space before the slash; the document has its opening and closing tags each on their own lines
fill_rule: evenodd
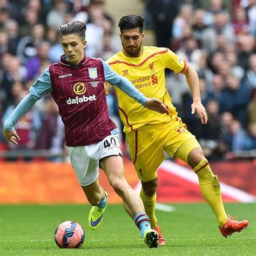
<svg viewBox="0 0 256 256">
<path fill-rule="evenodd" d="M 183 73 L 193 97 L 192 114 L 196 112 L 201 123 L 206 124 L 207 113 L 201 104 L 197 72 L 167 48 L 142 46 L 143 25 L 144 18 L 141 16 L 127 15 L 120 19 L 118 26 L 123 50 L 108 59 L 107 63 L 147 97 L 160 99 L 169 109 L 169 115 L 149 111 L 132 102 L 122 90 L 115 87 L 131 158 L 142 181 L 140 197 L 152 227 L 159 234 L 159 245 L 164 245 L 165 239 L 155 215 L 157 169 L 165 158 L 164 151 L 171 157 L 185 161 L 197 174 L 201 193 L 218 220 L 221 234 L 227 237 L 233 232 L 240 232 L 248 226 L 248 221 L 237 221 L 226 214 L 218 177 L 213 174 L 197 139 L 186 129 L 186 125 L 178 116 L 166 89 L 166 68 L 175 73 Z"/>
</svg>

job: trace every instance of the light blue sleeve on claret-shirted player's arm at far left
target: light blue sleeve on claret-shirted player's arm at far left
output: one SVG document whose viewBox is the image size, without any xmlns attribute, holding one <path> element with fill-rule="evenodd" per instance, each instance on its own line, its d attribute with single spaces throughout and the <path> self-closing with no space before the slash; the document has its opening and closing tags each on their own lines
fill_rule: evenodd
<svg viewBox="0 0 256 256">
<path fill-rule="evenodd" d="M 14 130 L 15 124 L 18 120 L 35 105 L 37 100 L 52 91 L 49 69 L 46 69 L 36 82 L 31 86 L 30 93 L 24 97 L 17 105 L 16 109 L 12 111 L 9 118 L 4 122 L 4 129 L 8 131 Z"/>
</svg>

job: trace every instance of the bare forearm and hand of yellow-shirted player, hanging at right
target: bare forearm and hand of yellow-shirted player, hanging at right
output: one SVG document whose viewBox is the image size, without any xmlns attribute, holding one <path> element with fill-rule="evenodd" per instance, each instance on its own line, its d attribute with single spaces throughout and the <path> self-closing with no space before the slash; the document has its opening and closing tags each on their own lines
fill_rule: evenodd
<svg viewBox="0 0 256 256">
<path fill-rule="evenodd" d="M 192 68 L 190 64 L 186 64 L 186 68 L 181 73 L 186 76 L 187 84 L 188 86 L 190 86 L 190 90 L 192 93 L 193 103 L 191 105 L 191 113 L 194 114 L 195 112 L 197 112 L 198 116 L 201 119 L 201 123 L 207 124 L 208 117 L 205 107 L 201 103 L 200 84 L 197 71 Z"/>
</svg>

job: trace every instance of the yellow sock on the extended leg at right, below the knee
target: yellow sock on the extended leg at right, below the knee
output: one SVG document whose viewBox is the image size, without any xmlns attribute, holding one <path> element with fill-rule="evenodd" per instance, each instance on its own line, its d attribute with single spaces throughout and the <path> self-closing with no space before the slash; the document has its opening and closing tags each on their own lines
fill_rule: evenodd
<svg viewBox="0 0 256 256">
<path fill-rule="evenodd" d="M 194 172 L 198 175 L 201 193 L 204 199 L 211 206 L 219 226 L 223 227 L 228 217 L 221 198 L 218 177 L 213 174 L 207 159 L 201 160 L 200 163 L 194 167 Z"/>
</svg>

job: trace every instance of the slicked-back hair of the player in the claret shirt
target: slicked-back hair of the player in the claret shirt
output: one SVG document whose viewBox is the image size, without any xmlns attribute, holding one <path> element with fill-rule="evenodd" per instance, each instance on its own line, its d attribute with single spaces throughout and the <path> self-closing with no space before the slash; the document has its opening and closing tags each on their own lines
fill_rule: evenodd
<svg viewBox="0 0 256 256">
<path fill-rule="evenodd" d="M 80 38 L 85 40 L 86 25 L 83 22 L 74 21 L 59 26 L 59 35 L 66 36 L 70 34 L 77 34 Z"/>
</svg>

